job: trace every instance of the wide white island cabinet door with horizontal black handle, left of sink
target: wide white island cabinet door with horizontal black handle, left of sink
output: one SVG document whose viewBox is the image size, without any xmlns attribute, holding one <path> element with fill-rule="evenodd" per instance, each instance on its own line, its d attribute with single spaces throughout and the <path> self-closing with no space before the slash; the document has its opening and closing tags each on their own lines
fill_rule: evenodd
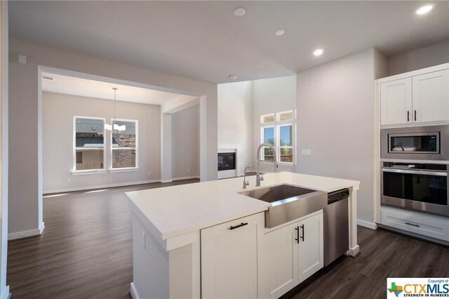
<svg viewBox="0 0 449 299">
<path fill-rule="evenodd" d="M 201 297 L 257 298 L 257 225 L 264 213 L 201 230 Z"/>
</svg>

